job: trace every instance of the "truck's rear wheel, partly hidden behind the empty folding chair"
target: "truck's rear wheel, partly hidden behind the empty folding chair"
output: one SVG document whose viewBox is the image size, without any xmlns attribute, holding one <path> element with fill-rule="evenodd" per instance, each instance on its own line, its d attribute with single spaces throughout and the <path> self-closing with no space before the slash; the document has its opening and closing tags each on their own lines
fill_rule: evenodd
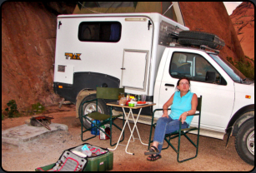
<svg viewBox="0 0 256 173">
<path fill-rule="evenodd" d="M 79 114 L 79 119 L 82 123 L 81 126 L 84 126 L 86 129 L 91 127 L 91 122 L 86 120 L 85 118 L 83 118 L 82 120 L 82 111 L 81 108 L 83 107 L 83 115 L 88 114 L 92 111 L 96 111 L 96 101 L 91 101 L 88 103 L 85 103 L 84 105 L 83 102 L 84 101 L 90 101 L 96 98 L 96 94 L 92 94 L 89 96 L 86 96 L 83 98 L 83 100 L 81 101 L 80 105 L 79 105 L 79 110 L 78 110 L 78 114 Z M 105 101 L 103 101 L 102 99 L 98 99 L 98 111 L 104 114 L 108 114 L 108 107 L 106 106 Z"/>
</svg>

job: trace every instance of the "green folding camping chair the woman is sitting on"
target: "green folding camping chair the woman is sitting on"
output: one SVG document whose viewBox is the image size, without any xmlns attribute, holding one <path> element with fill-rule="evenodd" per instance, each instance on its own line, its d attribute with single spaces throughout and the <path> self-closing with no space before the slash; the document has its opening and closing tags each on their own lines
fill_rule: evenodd
<svg viewBox="0 0 256 173">
<path fill-rule="evenodd" d="M 201 108 L 202 108 L 202 96 L 198 97 L 198 106 L 197 106 L 197 111 L 199 111 L 198 113 L 195 113 L 194 115 L 191 115 L 191 116 L 198 116 L 198 126 L 197 127 L 189 127 L 189 128 L 186 128 L 186 129 L 181 129 L 181 124 L 182 124 L 182 121 L 179 122 L 179 130 L 178 131 L 173 131 L 173 133 L 169 133 L 169 134 L 166 134 L 164 136 L 164 140 L 167 141 L 168 143 L 168 146 L 166 148 L 163 148 L 162 150 L 165 150 L 165 149 L 168 149 L 169 146 L 171 146 L 173 148 L 173 150 L 177 153 L 177 161 L 178 162 L 183 162 L 183 161 L 188 161 L 188 160 L 191 160 L 195 157 L 198 156 L 198 145 L 199 145 L 199 131 L 200 131 L 200 119 L 201 119 Z M 171 108 L 168 108 L 168 110 L 171 110 Z M 155 111 L 163 111 L 163 109 L 155 109 L 153 111 L 153 116 L 154 116 L 154 113 Z M 151 140 L 151 135 L 152 135 L 152 127 L 155 128 L 157 123 L 153 123 L 153 118 L 152 118 L 152 123 L 151 123 L 151 129 L 150 129 L 150 135 L 149 135 L 149 142 L 148 142 L 148 150 L 149 150 L 149 147 L 150 147 L 150 143 L 152 143 L 153 141 Z M 194 142 L 187 136 L 187 133 L 189 131 L 198 131 L 198 134 L 197 134 L 197 144 L 194 144 Z M 174 136 L 173 136 L 174 135 Z M 182 161 L 179 161 L 179 148 L 180 148 L 180 137 L 181 136 L 185 136 L 188 141 L 190 141 L 193 146 L 196 147 L 196 155 L 193 156 L 193 157 L 190 157 L 188 159 L 184 159 Z M 176 138 L 178 137 L 178 150 L 177 148 L 175 148 L 172 144 L 171 144 L 171 140 L 173 138 Z"/>
</svg>

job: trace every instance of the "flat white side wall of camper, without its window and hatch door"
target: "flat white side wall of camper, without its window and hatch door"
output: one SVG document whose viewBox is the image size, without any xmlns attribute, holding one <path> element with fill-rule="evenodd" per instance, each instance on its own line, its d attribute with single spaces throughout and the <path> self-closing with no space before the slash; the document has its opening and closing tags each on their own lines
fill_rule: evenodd
<svg viewBox="0 0 256 173">
<path fill-rule="evenodd" d="M 122 80 L 123 52 L 126 49 L 147 51 L 151 56 L 151 44 L 153 29 L 148 30 L 148 18 L 143 22 L 125 21 L 127 17 L 59 17 L 62 22 L 57 29 L 56 67 L 58 65 L 73 65 L 73 72 L 98 72 Z M 131 17 L 128 17 L 131 18 Z M 132 17 L 136 18 L 136 17 Z M 138 18 L 138 17 L 137 17 Z M 78 26 L 85 21 L 118 21 L 122 25 L 121 39 L 119 42 L 81 42 L 78 40 Z M 149 34 L 149 35 L 148 35 Z M 66 59 L 65 52 L 81 53 L 81 60 Z M 133 60 L 131 60 L 133 61 Z M 134 66 L 138 63 L 133 62 Z M 141 68 L 141 67 L 138 67 Z M 145 68 L 145 67 L 143 67 Z M 57 69 L 56 69 L 57 70 Z M 55 70 L 54 82 L 65 82 L 60 72 Z M 148 67 L 147 67 L 148 76 Z M 73 74 L 70 74 L 73 75 Z M 146 86 L 147 84 L 145 84 Z M 122 86 L 121 86 L 122 87 Z M 127 91 L 133 90 L 133 86 Z M 134 92 L 134 91 L 133 91 Z M 143 91 L 142 93 L 145 93 Z"/>
</svg>

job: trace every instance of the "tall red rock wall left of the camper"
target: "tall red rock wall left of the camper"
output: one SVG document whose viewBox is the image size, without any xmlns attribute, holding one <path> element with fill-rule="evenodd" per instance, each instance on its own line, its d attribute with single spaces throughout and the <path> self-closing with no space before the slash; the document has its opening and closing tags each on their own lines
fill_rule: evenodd
<svg viewBox="0 0 256 173">
<path fill-rule="evenodd" d="M 73 12 L 61 2 L 2 4 L 2 110 L 10 100 L 18 108 L 38 101 L 53 105 L 53 63 L 59 12 Z M 58 7 L 58 10 L 54 10 Z"/>
</svg>

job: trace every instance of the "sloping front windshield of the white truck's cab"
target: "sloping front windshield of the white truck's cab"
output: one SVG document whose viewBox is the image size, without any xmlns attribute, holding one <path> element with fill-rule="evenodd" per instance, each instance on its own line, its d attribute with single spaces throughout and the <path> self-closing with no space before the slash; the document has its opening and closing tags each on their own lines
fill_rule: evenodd
<svg viewBox="0 0 256 173">
<path fill-rule="evenodd" d="M 244 77 L 244 75 L 239 72 L 236 67 L 233 67 L 230 62 L 212 53 L 209 53 L 209 56 L 213 57 L 213 60 L 217 62 L 218 65 L 222 67 L 225 72 L 228 73 L 228 76 L 233 79 L 233 82 L 243 83 L 243 81 L 245 81 L 246 77 Z"/>
</svg>

